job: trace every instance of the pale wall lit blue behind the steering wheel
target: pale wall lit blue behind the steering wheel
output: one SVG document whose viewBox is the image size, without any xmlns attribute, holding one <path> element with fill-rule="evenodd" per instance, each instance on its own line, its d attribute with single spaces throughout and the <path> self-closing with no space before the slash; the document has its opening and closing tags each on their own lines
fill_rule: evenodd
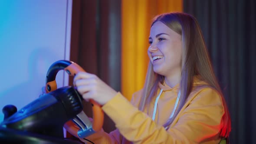
<svg viewBox="0 0 256 144">
<path fill-rule="evenodd" d="M 49 66 L 69 60 L 71 12 L 72 0 L 0 1 L 0 109 L 38 98 Z M 56 81 L 68 85 L 68 75 Z"/>
</svg>

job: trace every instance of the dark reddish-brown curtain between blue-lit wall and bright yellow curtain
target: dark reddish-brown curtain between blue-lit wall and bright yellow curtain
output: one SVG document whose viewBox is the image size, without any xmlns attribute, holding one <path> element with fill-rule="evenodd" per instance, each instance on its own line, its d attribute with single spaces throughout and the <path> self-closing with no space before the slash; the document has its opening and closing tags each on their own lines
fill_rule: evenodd
<svg viewBox="0 0 256 144">
<path fill-rule="evenodd" d="M 116 91 L 121 89 L 120 16 L 120 0 L 73 0 L 70 60 Z M 84 102 L 84 111 L 92 117 L 88 102 Z M 103 129 L 106 132 L 115 129 L 107 115 Z"/>
</svg>

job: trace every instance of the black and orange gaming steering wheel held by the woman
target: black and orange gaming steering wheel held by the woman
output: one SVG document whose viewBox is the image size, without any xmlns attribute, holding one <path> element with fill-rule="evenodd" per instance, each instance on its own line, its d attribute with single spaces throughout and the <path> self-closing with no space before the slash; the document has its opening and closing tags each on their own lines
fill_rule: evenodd
<svg viewBox="0 0 256 144">
<path fill-rule="evenodd" d="M 82 67 L 72 61 L 59 60 L 54 62 L 46 74 L 46 93 L 53 92 L 57 89 L 56 75 L 60 70 L 64 70 L 70 76 L 75 76 L 78 72 L 85 72 Z M 87 137 L 102 128 L 104 113 L 101 105 L 93 100 L 90 100 L 90 102 L 92 104 L 93 123 L 91 123 L 85 113 L 81 111 L 76 118 L 64 124 L 64 128 L 76 137 Z"/>
</svg>

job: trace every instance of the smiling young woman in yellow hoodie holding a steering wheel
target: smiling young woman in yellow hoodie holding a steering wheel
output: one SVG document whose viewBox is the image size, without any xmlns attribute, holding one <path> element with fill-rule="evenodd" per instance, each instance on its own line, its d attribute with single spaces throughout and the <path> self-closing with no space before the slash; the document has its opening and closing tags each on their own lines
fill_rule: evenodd
<svg viewBox="0 0 256 144">
<path fill-rule="evenodd" d="M 97 76 L 81 72 L 74 85 L 115 122 L 87 137 L 95 144 L 218 144 L 229 136 L 229 111 L 213 73 L 197 20 L 165 13 L 151 25 L 150 63 L 131 102 Z"/>
</svg>

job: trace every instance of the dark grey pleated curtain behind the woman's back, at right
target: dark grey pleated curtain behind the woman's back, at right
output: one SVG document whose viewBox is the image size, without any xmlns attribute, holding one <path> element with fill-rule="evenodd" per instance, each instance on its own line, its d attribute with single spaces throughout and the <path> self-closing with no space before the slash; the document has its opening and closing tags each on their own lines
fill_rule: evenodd
<svg viewBox="0 0 256 144">
<path fill-rule="evenodd" d="M 256 144 L 255 0 L 184 0 L 203 32 L 229 106 L 231 144 Z"/>
</svg>

